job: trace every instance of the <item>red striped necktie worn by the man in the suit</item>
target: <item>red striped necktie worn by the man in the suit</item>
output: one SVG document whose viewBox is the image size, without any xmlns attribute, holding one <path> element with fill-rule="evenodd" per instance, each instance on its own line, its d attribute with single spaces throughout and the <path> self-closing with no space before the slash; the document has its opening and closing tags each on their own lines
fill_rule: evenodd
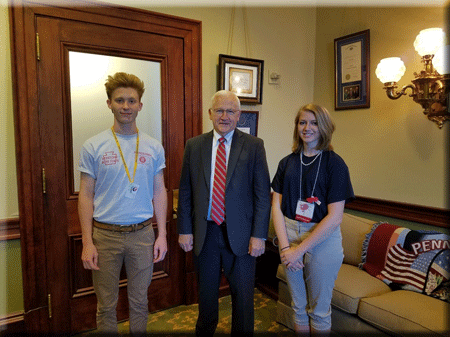
<svg viewBox="0 0 450 337">
<path fill-rule="evenodd" d="M 219 226 L 225 220 L 225 182 L 227 177 L 227 156 L 225 154 L 224 137 L 219 139 L 216 164 L 214 168 L 214 184 L 212 193 L 211 219 Z"/>
</svg>

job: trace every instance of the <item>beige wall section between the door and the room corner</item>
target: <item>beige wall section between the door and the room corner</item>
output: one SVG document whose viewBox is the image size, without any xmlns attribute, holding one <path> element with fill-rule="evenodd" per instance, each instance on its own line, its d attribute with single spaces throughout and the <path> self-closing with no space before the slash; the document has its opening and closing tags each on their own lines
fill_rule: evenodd
<svg viewBox="0 0 450 337">
<path fill-rule="evenodd" d="M 227 50 L 230 7 L 142 8 L 202 21 L 204 131 L 212 129 L 208 108 L 218 89 L 219 54 L 264 60 L 263 104 L 243 105 L 242 109 L 259 111 L 258 136 L 264 139 L 273 176 L 278 161 L 289 153 L 296 109 L 313 99 L 316 10 L 307 7 L 247 8 L 249 54 L 246 54 L 242 8 L 235 11 L 231 51 Z M 281 74 L 280 85 L 268 84 L 269 70 Z"/>
</svg>

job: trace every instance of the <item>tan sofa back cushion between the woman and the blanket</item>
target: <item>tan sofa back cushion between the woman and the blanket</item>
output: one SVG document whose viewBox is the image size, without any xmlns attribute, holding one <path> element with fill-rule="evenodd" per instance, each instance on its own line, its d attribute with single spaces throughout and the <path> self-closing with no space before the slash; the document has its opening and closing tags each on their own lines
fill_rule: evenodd
<svg viewBox="0 0 450 337">
<path fill-rule="evenodd" d="M 361 263 L 362 244 L 375 221 L 344 213 L 341 223 L 344 263 L 357 266 Z"/>
</svg>

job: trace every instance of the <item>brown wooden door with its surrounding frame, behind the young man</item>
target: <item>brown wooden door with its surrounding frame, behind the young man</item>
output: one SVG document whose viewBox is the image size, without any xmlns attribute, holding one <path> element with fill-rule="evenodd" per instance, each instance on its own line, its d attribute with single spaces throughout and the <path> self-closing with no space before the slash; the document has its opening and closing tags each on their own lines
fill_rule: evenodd
<svg viewBox="0 0 450 337">
<path fill-rule="evenodd" d="M 161 64 L 170 209 L 184 143 L 202 132 L 201 22 L 89 0 L 11 0 L 9 10 L 23 319 L 30 333 L 81 331 L 94 324 L 95 299 L 90 275 L 79 260 L 67 53 Z M 193 292 L 184 286 L 188 264 L 175 243 L 173 220 L 168 219 L 169 255 L 155 266 L 149 291 L 152 311 L 186 301 Z M 121 303 L 123 318 L 126 302 Z"/>
</svg>

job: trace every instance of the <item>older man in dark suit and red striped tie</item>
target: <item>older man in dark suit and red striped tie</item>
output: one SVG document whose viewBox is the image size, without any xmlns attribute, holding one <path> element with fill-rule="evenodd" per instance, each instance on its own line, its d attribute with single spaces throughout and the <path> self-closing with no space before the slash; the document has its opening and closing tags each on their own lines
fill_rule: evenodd
<svg viewBox="0 0 450 337">
<path fill-rule="evenodd" d="M 212 336 L 216 330 L 223 269 L 232 297 L 231 333 L 252 335 L 255 263 L 264 253 L 270 217 L 266 153 L 261 139 L 236 130 L 241 112 L 234 93 L 221 90 L 211 103 L 209 118 L 214 130 L 186 143 L 178 241 L 185 252 L 194 248 L 195 253 L 199 292 L 196 334 Z M 222 143 L 225 151 L 221 153 Z"/>
</svg>

